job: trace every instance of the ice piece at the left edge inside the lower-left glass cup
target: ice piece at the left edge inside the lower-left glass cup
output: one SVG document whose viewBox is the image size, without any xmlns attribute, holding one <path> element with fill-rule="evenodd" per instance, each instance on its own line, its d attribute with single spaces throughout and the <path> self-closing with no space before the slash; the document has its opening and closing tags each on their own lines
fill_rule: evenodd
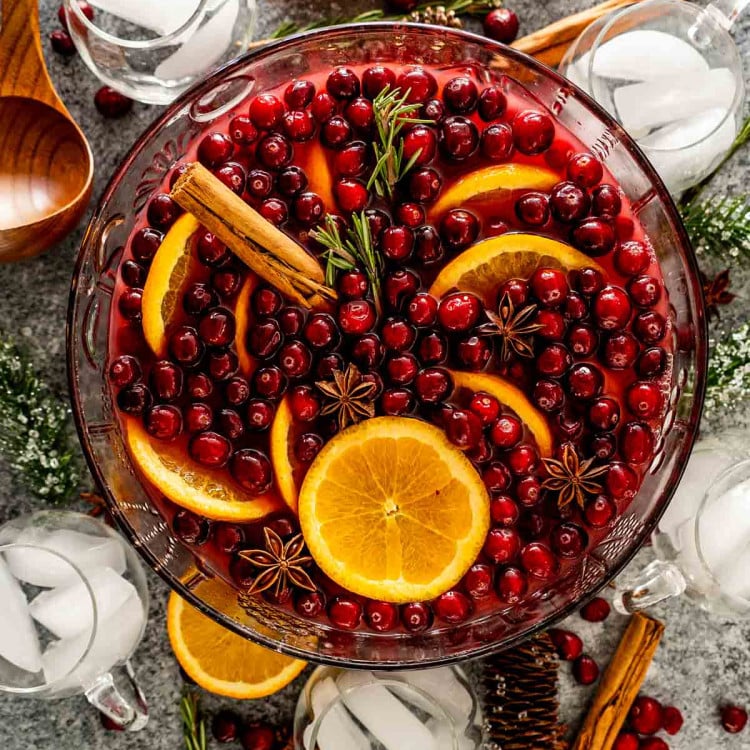
<svg viewBox="0 0 750 750">
<path fill-rule="evenodd" d="M 18 581 L 0 557 L 0 656 L 27 672 L 42 668 L 39 636 Z"/>
</svg>

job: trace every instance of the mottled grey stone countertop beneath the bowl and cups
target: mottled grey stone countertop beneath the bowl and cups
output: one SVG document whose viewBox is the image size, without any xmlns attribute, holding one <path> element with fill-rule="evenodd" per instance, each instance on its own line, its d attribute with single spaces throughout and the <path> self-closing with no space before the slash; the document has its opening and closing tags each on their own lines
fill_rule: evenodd
<svg viewBox="0 0 750 750">
<path fill-rule="evenodd" d="M 7 1 L 7 0 L 6 0 Z M 1 5 L 2 3 L 0 3 Z M 533 31 L 553 20 L 581 10 L 588 0 L 514 0 L 509 4 L 518 12 L 521 33 Z M 331 15 L 365 10 L 376 6 L 374 0 L 349 0 L 336 3 L 318 0 L 259 0 L 259 33 L 268 32 L 285 16 L 295 20 L 313 20 Z M 94 196 L 98 197 L 115 166 L 136 137 L 158 110 L 137 104 L 123 120 L 102 119 L 93 106 L 93 95 L 99 83 L 80 58 L 66 60 L 49 52 L 47 34 L 56 27 L 57 0 L 41 0 L 41 27 L 44 48 L 48 52 L 52 79 L 73 116 L 82 126 L 94 151 L 96 179 Z M 737 30 L 746 68 L 750 68 L 750 21 Z M 750 70 L 745 71 L 750 80 Z M 750 149 L 738 154 L 715 181 L 718 190 L 738 192 L 750 178 Z M 65 315 L 70 278 L 83 227 L 46 255 L 25 263 L 0 266 L 0 320 L 2 329 L 13 334 L 35 357 L 43 375 L 64 392 Z M 735 286 L 740 299 L 724 315 L 724 324 L 747 317 L 747 293 L 750 274 L 737 272 Z M 706 429 L 728 424 L 747 424 L 748 413 L 736 411 L 731 417 L 719 418 Z M 0 522 L 40 507 L 40 503 L 11 484 L 8 472 L 0 463 Z M 651 559 L 642 551 L 634 565 Z M 150 574 L 151 612 L 146 635 L 135 654 L 133 664 L 148 697 L 152 720 L 137 734 L 104 731 L 96 713 L 83 698 L 61 702 L 33 702 L 0 697 L 0 748 L 3 750 L 175 750 L 183 747 L 178 700 L 182 687 L 176 662 L 166 637 L 164 616 L 168 590 Z M 667 624 L 666 636 L 648 675 L 645 690 L 667 703 L 683 709 L 685 727 L 670 740 L 677 750 L 716 750 L 750 748 L 750 730 L 743 735 L 724 733 L 717 720 L 717 706 L 724 701 L 750 703 L 750 624 L 709 618 L 686 601 L 669 602 L 654 612 Z M 583 622 L 574 615 L 566 624 L 578 632 L 587 650 L 601 664 L 612 654 L 625 618 L 613 615 L 606 626 Z M 561 668 L 563 715 L 575 726 L 583 715 L 591 689 L 578 687 L 569 677 L 568 665 Z M 265 717 L 278 723 L 291 719 L 296 696 L 304 677 L 282 693 L 264 701 L 238 705 L 248 718 Z M 228 706 L 231 701 L 206 696 L 204 706 L 211 711 Z M 345 750 L 342 748 L 341 750 Z"/>
</svg>

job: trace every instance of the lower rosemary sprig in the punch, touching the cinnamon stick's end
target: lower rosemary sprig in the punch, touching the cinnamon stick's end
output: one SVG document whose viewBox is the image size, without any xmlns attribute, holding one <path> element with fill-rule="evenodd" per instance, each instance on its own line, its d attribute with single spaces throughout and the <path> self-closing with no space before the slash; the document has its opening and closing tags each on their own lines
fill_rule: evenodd
<svg viewBox="0 0 750 750">
<path fill-rule="evenodd" d="M 345 237 L 341 236 L 338 224 L 331 214 L 326 215 L 325 228 L 315 229 L 310 235 L 325 248 L 323 257 L 326 261 L 326 284 L 335 286 L 339 271 L 361 268 L 370 281 L 375 309 L 380 315 L 383 256 L 373 245 L 370 222 L 367 221 L 365 212 L 352 214 L 352 226 L 347 228 Z"/>
</svg>

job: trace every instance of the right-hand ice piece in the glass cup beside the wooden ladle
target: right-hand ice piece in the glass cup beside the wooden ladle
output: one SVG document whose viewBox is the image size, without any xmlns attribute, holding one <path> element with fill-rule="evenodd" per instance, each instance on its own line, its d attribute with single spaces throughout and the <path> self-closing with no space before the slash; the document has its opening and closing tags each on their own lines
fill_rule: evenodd
<svg viewBox="0 0 750 750">
<path fill-rule="evenodd" d="M 182 47 L 157 66 L 154 75 L 165 81 L 179 81 L 210 70 L 232 43 L 239 9 L 239 0 L 227 0 Z"/>
</svg>

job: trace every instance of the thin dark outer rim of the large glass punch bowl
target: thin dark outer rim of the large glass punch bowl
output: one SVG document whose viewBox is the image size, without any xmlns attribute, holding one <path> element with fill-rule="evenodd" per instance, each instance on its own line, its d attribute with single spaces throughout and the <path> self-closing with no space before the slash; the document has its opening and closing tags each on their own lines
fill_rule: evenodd
<svg viewBox="0 0 750 750">
<path fill-rule="evenodd" d="M 377 652 L 378 643 L 384 644 L 389 641 L 401 641 L 405 642 L 408 648 L 413 649 L 413 655 L 402 656 L 398 660 L 379 660 L 377 653 L 370 658 L 361 658 L 354 654 L 335 654 L 322 652 L 321 650 L 310 650 L 303 647 L 298 647 L 290 643 L 284 642 L 280 638 L 271 638 L 267 635 L 260 633 L 256 630 L 242 625 L 226 614 L 213 609 L 211 606 L 206 604 L 199 596 L 192 592 L 188 586 L 185 585 L 174 573 L 164 567 L 159 560 L 156 559 L 153 552 L 149 550 L 142 539 L 139 538 L 136 531 L 127 523 L 122 517 L 121 511 L 118 509 L 117 502 L 113 497 L 112 490 L 108 486 L 107 481 L 104 477 L 102 467 L 100 467 L 93 456 L 93 447 L 91 437 L 89 435 L 88 427 L 86 424 L 86 418 L 84 415 L 84 409 L 81 399 L 81 392 L 77 382 L 77 371 L 76 371 L 76 352 L 78 347 L 77 336 L 80 333 L 75 330 L 76 323 L 76 303 L 77 297 L 81 294 L 79 288 L 79 279 L 81 272 L 87 260 L 87 251 L 90 251 L 89 244 L 95 239 L 97 234 L 97 227 L 101 223 L 103 215 L 106 213 L 107 205 L 119 186 L 121 180 L 128 173 L 128 170 L 133 166 L 136 157 L 140 152 L 147 146 L 148 142 L 157 134 L 163 127 L 170 124 L 175 115 L 182 110 L 186 104 L 190 101 L 199 99 L 206 93 L 212 91 L 217 85 L 219 85 L 225 78 L 231 76 L 232 73 L 245 68 L 248 63 L 252 62 L 254 65 L 262 65 L 263 61 L 269 57 L 277 55 L 278 53 L 285 51 L 293 51 L 296 46 L 300 46 L 304 43 L 310 43 L 316 41 L 318 43 L 317 49 L 320 49 L 320 45 L 323 41 L 325 42 L 351 42 L 352 38 L 358 39 L 360 36 L 369 35 L 382 35 L 385 39 L 392 37 L 394 34 L 412 35 L 415 38 L 424 39 L 435 39 L 436 42 L 445 43 L 446 41 L 453 41 L 459 44 L 474 45 L 483 49 L 487 53 L 500 55 L 505 57 L 510 63 L 529 68 L 531 72 L 535 73 L 540 79 L 549 79 L 560 90 L 566 91 L 571 95 L 573 100 L 578 100 L 585 106 L 597 120 L 603 124 L 606 129 L 614 134 L 620 144 L 626 149 L 629 159 L 638 168 L 640 175 L 645 178 L 648 184 L 651 186 L 650 194 L 651 197 L 658 199 L 659 208 L 662 210 L 664 216 L 662 218 L 667 220 L 669 230 L 674 234 L 678 249 L 680 251 L 681 266 L 685 271 L 685 279 L 687 288 L 682 290 L 683 295 L 687 299 L 691 318 L 689 321 L 691 330 L 691 348 L 689 351 L 692 356 L 692 363 L 694 367 L 694 383 L 686 391 L 691 397 L 691 403 L 686 412 L 680 414 L 681 426 L 684 427 L 684 435 L 680 438 L 681 442 L 679 445 L 679 455 L 673 462 L 672 469 L 672 481 L 669 486 L 661 492 L 661 496 L 658 501 L 653 503 L 653 507 L 649 509 L 648 514 L 643 517 L 636 519 L 639 523 L 624 523 L 623 532 L 628 534 L 628 539 L 624 549 L 617 550 L 619 555 L 617 562 L 611 567 L 603 565 L 606 572 L 604 577 L 597 580 L 590 590 L 585 591 L 577 597 L 572 598 L 569 602 L 566 602 L 563 606 L 560 606 L 554 612 L 543 616 L 536 622 L 531 623 L 528 627 L 521 628 L 517 633 L 511 637 L 506 637 L 501 640 L 494 640 L 492 631 L 489 631 L 489 635 L 485 636 L 485 631 L 480 631 L 482 625 L 489 623 L 490 621 L 498 620 L 498 615 L 492 613 L 483 617 L 481 620 L 473 620 L 467 624 L 454 627 L 443 627 L 440 630 L 430 630 L 423 634 L 412 634 L 412 633 L 374 633 L 374 632 L 358 632 L 358 631 L 343 631 L 337 630 L 327 625 L 315 624 L 315 630 L 318 635 L 321 634 L 333 634 L 341 638 L 349 638 L 351 643 L 361 648 L 366 643 L 370 647 L 371 651 Z M 547 107 L 548 105 L 544 105 Z M 580 134 L 579 134 L 579 137 Z M 374 667 L 377 666 L 380 669 L 388 668 L 425 668 L 429 666 L 438 666 L 444 664 L 451 664 L 460 662 L 467 658 L 480 657 L 493 651 L 498 651 L 512 647 L 527 638 L 533 636 L 535 633 L 541 632 L 546 628 L 550 627 L 559 620 L 567 617 L 569 614 L 577 610 L 586 601 L 596 595 L 603 586 L 611 581 L 621 570 L 627 565 L 627 563 L 633 558 L 636 552 L 646 542 L 654 530 L 659 518 L 664 512 L 669 500 L 672 497 L 675 487 L 677 486 L 679 479 L 682 476 L 685 464 L 692 450 L 692 446 L 697 434 L 698 424 L 700 422 L 700 416 L 703 408 L 703 399 L 705 395 L 705 373 L 707 368 L 708 359 L 708 346 L 707 346 L 707 323 L 706 315 L 703 306 L 703 299 L 701 295 L 701 286 L 699 282 L 698 266 L 695 258 L 695 254 L 690 245 L 690 241 L 685 232 L 685 229 L 680 220 L 679 213 L 669 196 L 667 189 L 664 184 L 649 164 L 646 157 L 640 151 L 638 146 L 633 140 L 622 130 L 622 128 L 615 122 L 599 105 L 596 104 L 588 95 L 578 89 L 572 83 L 562 78 L 555 71 L 547 68 L 543 64 L 537 62 L 533 58 L 520 53 L 510 47 L 506 47 L 502 44 L 492 42 L 484 37 L 477 34 L 472 34 L 466 31 L 458 31 L 454 29 L 437 29 L 434 26 L 428 26 L 424 24 L 411 24 L 411 23 L 367 23 L 367 24 L 351 24 L 346 26 L 336 26 L 324 29 L 316 29 L 309 32 L 294 35 L 292 37 L 281 39 L 272 42 L 268 46 L 251 50 L 242 57 L 225 64 L 221 68 L 217 69 L 208 78 L 202 82 L 196 84 L 186 93 L 184 93 L 179 99 L 177 99 L 172 105 L 170 105 L 164 114 L 161 115 L 147 130 L 138 141 L 135 143 L 133 148 L 130 150 L 128 155 L 123 159 L 122 163 L 116 170 L 109 184 L 107 185 L 102 198 L 100 199 L 97 209 L 94 212 L 91 222 L 88 226 L 86 234 L 83 239 L 81 250 L 76 259 L 76 265 L 73 274 L 73 283 L 70 292 L 68 318 L 67 318 L 67 360 L 68 360 L 68 379 L 71 393 L 71 400 L 73 406 L 73 414 L 76 422 L 76 427 L 81 439 L 82 446 L 84 448 L 84 454 L 88 462 L 89 468 L 97 483 L 102 489 L 103 495 L 113 510 L 113 516 L 118 522 L 122 532 L 128 537 L 131 543 L 134 544 L 138 552 L 148 562 L 150 567 L 163 578 L 169 586 L 184 597 L 191 604 L 196 606 L 202 612 L 209 617 L 212 617 L 217 622 L 221 623 L 225 627 L 231 629 L 237 634 L 250 638 L 261 645 L 272 648 L 276 651 L 286 653 L 290 656 L 311 660 L 316 663 L 331 664 L 335 666 L 351 666 L 351 667 Z M 685 375 L 687 380 L 687 375 Z M 685 382 L 679 384 L 682 388 L 685 386 Z M 675 389 L 673 389 L 674 391 Z M 675 404 L 679 402 L 679 390 L 675 396 Z M 684 405 L 683 405 L 684 406 Z M 663 453 L 662 453 L 663 457 Z M 659 466 L 654 468 L 654 472 L 658 471 Z M 636 498 L 637 499 L 637 498 Z M 635 502 L 635 500 L 633 501 Z M 622 517 L 625 520 L 625 516 Z M 634 519 L 634 516 L 630 514 L 627 516 L 627 521 L 630 522 Z M 631 528 L 632 527 L 632 528 Z M 606 540 L 605 540 L 606 541 Z M 619 540 L 614 540 L 617 544 Z M 179 544 L 179 543 L 178 543 Z M 585 583 L 586 570 L 584 566 L 584 575 L 581 576 L 581 580 Z M 534 605 L 538 604 L 537 600 Z M 477 643 L 473 643 L 466 648 L 462 648 L 460 644 L 463 639 L 466 640 L 466 634 L 473 634 L 479 639 Z M 482 633 L 482 636 L 478 636 L 478 633 Z M 451 638 L 451 636 L 455 636 Z M 487 637 L 489 640 L 482 640 Z M 432 639 L 447 638 L 451 643 L 449 653 L 437 653 L 425 654 L 425 643 L 432 643 Z M 420 646 L 420 644 L 422 644 Z M 434 647 L 433 647 L 434 650 Z"/>
</svg>

